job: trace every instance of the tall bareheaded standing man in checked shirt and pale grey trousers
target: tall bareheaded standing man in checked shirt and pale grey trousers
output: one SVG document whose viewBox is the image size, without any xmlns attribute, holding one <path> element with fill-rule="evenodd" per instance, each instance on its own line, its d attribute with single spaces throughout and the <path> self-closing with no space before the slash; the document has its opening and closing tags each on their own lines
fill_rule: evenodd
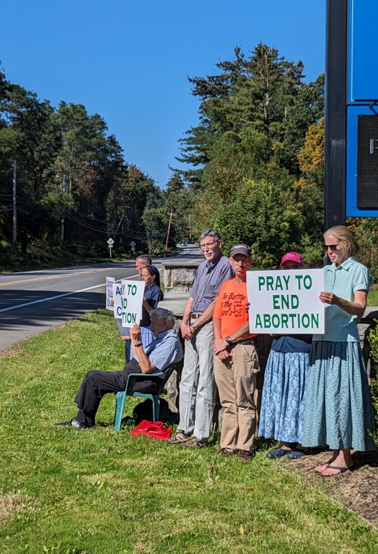
<svg viewBox="0 0 378 554">
<path fill-rule="evenodd" d="M 233 276 L 230 262 L 221 253 L 218 231 L 207 229 L 200 235 L 200 248 L 206 260 L 196 277 L 181 324 L 185 342 L 184 368 L 180 381 L 180 423 L 167 443 L 198 448 L 209 439 L 214 410 L 212 316 L 223 281 Z"/>
</svg>

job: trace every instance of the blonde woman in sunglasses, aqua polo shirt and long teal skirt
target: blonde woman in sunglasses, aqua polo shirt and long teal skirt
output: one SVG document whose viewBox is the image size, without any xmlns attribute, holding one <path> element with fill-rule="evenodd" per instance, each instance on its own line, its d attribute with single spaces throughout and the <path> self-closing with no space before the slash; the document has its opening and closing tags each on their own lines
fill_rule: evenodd
<svg viewBox="0 0 378 554">
<path fill-rule="evenodd" d="M 313 335 L 306 382 L 303 445 L 328 445 L 333 455 L 315 468 L 324 477 L 341 474 L 353 465 L 350 449 L 375 449 L 368 434 L 374 416 L 357 323 L 366 309 L 368 269 L 353 256 L 359 247 L 347 227 L 324 234 L 332 262 L 324 268 L 325 334 Z"/>
</svg>

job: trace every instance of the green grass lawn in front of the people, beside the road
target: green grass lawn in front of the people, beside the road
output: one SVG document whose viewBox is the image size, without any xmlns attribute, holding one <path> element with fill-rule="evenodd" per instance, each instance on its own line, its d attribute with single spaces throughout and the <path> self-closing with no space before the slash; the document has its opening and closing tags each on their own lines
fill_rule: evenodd
<svg viewBox="0 0 378 554">
<path fill-rule="evenodd" d="M 378 533 L 263 450 L 252 463 L 98 427 L 60 429 L 85 372 L 117 370 L 112 314 L 45 332 L 0 358 L 0 552 L 371 554 Z M 130 402 L 130 399 L 128 399 Z M 131 413 L 131 404 L 128 404 Z"/>
</svg>

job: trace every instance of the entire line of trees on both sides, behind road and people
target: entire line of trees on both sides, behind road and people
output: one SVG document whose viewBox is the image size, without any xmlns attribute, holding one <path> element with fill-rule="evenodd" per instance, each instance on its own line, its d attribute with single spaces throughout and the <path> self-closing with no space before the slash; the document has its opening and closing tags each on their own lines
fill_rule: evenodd
<svg viewBox="0 0 378 554">
<path fill-rule="evenodd" d="M 0 244 L 11 242 L 12 213 L 1 209 L 10 206 L 17 159 L 24 252 L 47 241 L 73 256 L 105 254 L 107 235 L 119 252 L 131 240 L 162 251 L 171 214 L 171 247 L 214 227 L 225 251 L 250 244 L 257 267 L 274 267 L 292 249 L 321 264 L 324 75 L 306 82 L 301 61 L 262 42 L 215 66 L 214 75 L 189 78 L 199 118 L 179 140 L 180 166 L 163 189 L 125 161 L 101 116 L 66 102 L 55 109 L 0 72 Z M 378 278 L 376 220 L 347 223 Z"/>
</svg>

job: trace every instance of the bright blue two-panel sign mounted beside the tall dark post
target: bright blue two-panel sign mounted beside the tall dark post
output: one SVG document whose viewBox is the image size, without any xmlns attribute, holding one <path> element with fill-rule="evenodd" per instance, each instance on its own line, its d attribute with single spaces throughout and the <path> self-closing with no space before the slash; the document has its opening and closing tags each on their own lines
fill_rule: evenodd
<svg viewBox="0 0 378 554">
<path fill-rule="evenodd" d="M 378 0 L 349 0 L 347 217 L 378 217 L 377 21 Z"/>
</svg>

